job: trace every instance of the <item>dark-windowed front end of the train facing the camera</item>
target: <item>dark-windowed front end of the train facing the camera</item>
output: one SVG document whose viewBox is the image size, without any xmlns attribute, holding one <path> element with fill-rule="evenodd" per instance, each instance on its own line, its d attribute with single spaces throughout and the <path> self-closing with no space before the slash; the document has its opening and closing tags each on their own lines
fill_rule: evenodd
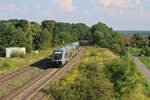
<svg viewBox="0 0 150 100">
<path fill-rule="evenodd" d="M 62 50 L 54 50 L 52 54 L 52 62 L 54 65 L 60 65 L 62 66 L 62 55 L 63 51 Z"/>
</svg>

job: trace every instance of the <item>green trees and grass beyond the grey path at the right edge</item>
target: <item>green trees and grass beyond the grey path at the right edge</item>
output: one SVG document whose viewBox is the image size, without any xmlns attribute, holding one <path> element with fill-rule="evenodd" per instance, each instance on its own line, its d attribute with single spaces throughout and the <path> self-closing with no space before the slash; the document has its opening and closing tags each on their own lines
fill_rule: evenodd
<svg viewBox="0 0 150 100">
<path fill-rule="evenodd" d="M 150 36 L 134 34 L 132 40 L 136 41 L 136 48 L 129 47 L 129 53 L 137 56 L 150 69 Z"/>
</svg>

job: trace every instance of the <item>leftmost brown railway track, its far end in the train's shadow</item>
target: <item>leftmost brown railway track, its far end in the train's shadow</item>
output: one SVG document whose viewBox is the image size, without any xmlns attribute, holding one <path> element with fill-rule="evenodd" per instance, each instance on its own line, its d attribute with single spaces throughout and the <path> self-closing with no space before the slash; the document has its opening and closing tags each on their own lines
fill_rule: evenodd
<svg viewBox="0 0 150 100">
<path fill-rule="evenodd" d="M 40 61 L 38 61 L 38 62 L 36 62 L 34 64 L 41 65 L 41 64 L 45 64 L 46 61 L 47 60 L 42 59 L 42 60 L 40 60 Z M 34 65 L 34 64 L 32 64 L 32 65 Z M 12 78 L 14 78 L 16 76 L 19 76 L 19 75 L 21 75 L 21 74 L 23 74 L 23 73 L 33 69 L 34 66 L 32 66 L 32 65 L 23 67 L 21 69 L 18 69 L 18 70 L 14 71 L 14 72 L 9 73 L 9 74 L 0 76 L 0 85 L 4 84 L 6 81 L 9 81 L 10 79 L 12 79 Z"/>
</svg>

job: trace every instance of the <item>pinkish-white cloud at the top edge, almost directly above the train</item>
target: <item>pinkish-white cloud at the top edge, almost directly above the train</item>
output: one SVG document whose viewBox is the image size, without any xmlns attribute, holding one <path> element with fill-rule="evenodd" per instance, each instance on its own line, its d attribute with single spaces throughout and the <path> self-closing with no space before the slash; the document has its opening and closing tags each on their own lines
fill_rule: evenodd
<svg viewBox="0 0 150 100">
<path fill-rule="evenodd" d="M 53 0 L 53 2 L 59 5 L 65 12 L 72 12 L 74 9 L 72 0 Z"/>
</svg>

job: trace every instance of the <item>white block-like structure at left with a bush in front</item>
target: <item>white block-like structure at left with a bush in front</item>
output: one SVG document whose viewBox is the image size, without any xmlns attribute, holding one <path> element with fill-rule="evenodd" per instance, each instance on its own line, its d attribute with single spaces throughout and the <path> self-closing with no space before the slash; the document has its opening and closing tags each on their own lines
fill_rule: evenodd
<svg viewBox="0 0 150 100">
<path fill-rule="evenodd" d="M 6 57 L 8 58 L 11 57 L 11 54 L 15 51 L 26 54 L 25 47 L 9 47 L 9 48 L 6 48 Z"/>
</svg>

